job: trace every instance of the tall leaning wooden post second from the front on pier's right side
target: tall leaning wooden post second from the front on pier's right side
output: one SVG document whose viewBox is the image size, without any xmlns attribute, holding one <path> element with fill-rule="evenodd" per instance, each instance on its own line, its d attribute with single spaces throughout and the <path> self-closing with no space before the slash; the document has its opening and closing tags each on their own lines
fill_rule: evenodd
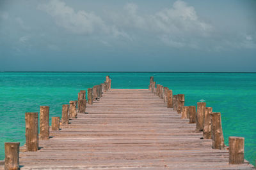
<svg viewBox="0 0 256 170">
<path fill-rule="evenodd" d="M 220 113 L 212 113 L 211 120 L 211 134 L 212 134 L 212 148 L 213 149 L 224 149 L 224 138 L 221 127 L 221 115 Z"/>
</svg>

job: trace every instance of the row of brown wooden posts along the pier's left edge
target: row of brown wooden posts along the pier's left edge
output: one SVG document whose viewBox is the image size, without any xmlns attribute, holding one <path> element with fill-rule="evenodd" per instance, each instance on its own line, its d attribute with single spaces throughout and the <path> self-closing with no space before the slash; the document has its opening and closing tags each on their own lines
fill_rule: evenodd
<svg viewBox="0 0 256 170">
<path fill-rule="evenodd" d="M 106 81 L 100 85 L 95 85 L 93 88 L 88 88 L 88 104 L 93 104 L 93 101 L 99 100 L 102 94 L 111 89 L 111 79 L 106 76 Z M 62 105 L 62 117 L 52 117 L 52 131 L 60 131 L 61 125 L 68 125 L 69 120 L 77 118 L 77 113 L 86 113 L 86 90 L 80 90 L 77 101 L 70 101 L 69 104 Z M 26 122 L 26 151 L 35 152 L 38 150 L 38 139 L 49 139 L 49 106 L 40 106 L 40 131 L 38 134 L 38 113 L 25 113 Z M 19 150 L 20 143 L 4 143 L 5 159 L 4 169 L 19 169 Z"/>
</svg>

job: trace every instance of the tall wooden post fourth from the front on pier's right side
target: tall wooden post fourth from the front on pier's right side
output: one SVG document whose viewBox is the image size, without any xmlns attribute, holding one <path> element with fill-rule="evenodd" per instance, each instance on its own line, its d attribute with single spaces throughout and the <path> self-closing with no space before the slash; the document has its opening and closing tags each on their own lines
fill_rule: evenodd
<svg viewBox="0 0 256 170">
<path fill-rule="evenodd" d="M 196 112 L 196 132 L 204 131 L 204 114 L 205 114 L 206 103 L 197 103 Z"/>
</svg>

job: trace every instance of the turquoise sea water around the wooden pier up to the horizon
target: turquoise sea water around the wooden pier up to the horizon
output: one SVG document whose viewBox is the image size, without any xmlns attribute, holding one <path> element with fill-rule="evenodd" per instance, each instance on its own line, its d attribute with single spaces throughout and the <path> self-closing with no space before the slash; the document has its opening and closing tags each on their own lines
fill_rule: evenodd
<svg viewBox="0 0 256 170">
<path fill-rule="evenodd" d="M 149 77 L 185 94 L 186 106 L 205 101 L 221 112 L 225 144 L 228 136 L 245 138 L 245 159 L 256 159 L 256 73 L 0 73 L 0 160 L 4 142 L 25 143 L 25 112 L 50 106 L 50 117 L 61 117 L 61 106 L 112 78 L 114 89 L 148 89 Z"/>
</svg>

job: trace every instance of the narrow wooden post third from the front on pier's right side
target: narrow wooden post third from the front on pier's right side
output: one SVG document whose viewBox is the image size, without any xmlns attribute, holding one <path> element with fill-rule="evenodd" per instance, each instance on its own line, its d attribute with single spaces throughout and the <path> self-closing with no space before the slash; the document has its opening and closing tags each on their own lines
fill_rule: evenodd
<svg viewBox="0 0 256 170">
<path fill-rule="evenodd" d="M 204 132 L 203 137 L 204 139 L 211 139 L 211 113 L 212 108 L 207 107 L 205 108 L 205 114 L 204 114 Z"/>
</svg>

